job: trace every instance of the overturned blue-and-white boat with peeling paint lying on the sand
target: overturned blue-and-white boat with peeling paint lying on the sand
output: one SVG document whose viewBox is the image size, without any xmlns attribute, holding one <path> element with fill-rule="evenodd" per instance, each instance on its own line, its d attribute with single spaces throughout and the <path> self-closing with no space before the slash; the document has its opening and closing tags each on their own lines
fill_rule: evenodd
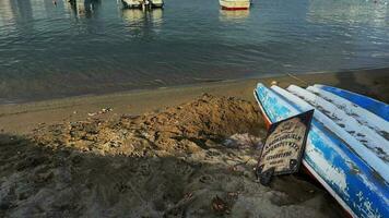
<svg viewBox="0 0 389 218">
<path fill-rule="evenodd" d="M 350 216 L 389 217 L 389 123 L 327 87 L 258 84 L 255 97 L 267 126 L 314 109 L 304 168 Z"/>
</svg>

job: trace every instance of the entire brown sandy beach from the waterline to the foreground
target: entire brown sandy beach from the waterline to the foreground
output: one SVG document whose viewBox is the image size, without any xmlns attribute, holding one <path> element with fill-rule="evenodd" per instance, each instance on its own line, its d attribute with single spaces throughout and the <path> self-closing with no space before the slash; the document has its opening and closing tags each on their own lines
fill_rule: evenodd
<svg viewBox="0 0 389 218">
<path fill-rule="evenodd" d="M 258 82 L 389 101 L 389 69 L 0 106 L 0 217 L 342 217 L 304 173 L 256 181 Z"/>
</svg>

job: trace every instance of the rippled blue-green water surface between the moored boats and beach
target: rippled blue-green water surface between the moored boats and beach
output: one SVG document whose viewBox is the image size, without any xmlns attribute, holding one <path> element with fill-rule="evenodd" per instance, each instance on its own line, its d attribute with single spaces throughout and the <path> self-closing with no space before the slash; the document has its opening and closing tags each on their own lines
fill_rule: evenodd
<svg viewBox="0 0 389 218">
<path fill-rule="evenodd" d="M 0 0 L 0 104 L 389 66 L 388 0 Z"/>
</svg>

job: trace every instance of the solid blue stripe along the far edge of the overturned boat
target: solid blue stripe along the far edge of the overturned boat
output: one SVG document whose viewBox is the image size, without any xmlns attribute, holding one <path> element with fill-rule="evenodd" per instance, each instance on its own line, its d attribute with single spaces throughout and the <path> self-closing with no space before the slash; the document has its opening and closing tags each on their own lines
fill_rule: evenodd
<svg viewBox="0 0 389 218">
<path fill-rule="evenodd" d="M 327 86 L 327 85 L 315 85 L 315 86 L 323 90 L 333 93 L 338 96 L 341 96 L 342 98 L 345 98 L 352 101 L 353 104 L 362 108 L 365 108 L 366 110 L 372 111 L 373 113 L 376 113 L 377 116 L 381 117 L 386 121 L 389 121 L 389 106 L 385 102 L 369 98 L 364 95 L 359 95 L 350 90 L 344 90 L 332 86 Z"/>
</svg>

